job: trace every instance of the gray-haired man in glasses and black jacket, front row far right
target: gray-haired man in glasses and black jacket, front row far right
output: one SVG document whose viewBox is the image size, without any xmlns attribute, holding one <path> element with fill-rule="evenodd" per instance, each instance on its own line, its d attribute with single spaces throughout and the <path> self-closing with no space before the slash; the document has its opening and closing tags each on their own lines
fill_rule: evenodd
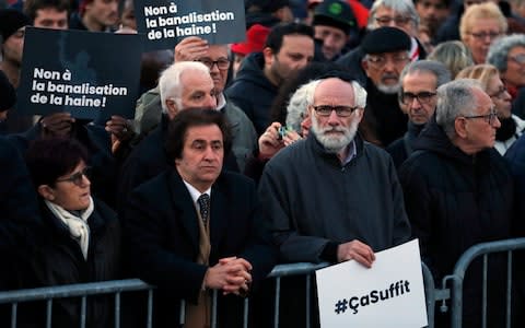
<svg viewBox="0 0 525 328">
<path fill-rule="evenodd" d="M 470 246 L 511 237 L 514 188 L 493 149 L 499 127 L 494 104 L 478 81 L 445 83 L 438 89 L 435 119 L 399 169 L 412 233 L 435 281 L 452 272 Z M 487 327 L 504 323 L 506 257 L 499 256 L 489 259 Z M 481 266 L 472 262 L 465 279 L 463 327 L 481 327 Z M 445 315 L 436 317 L 435 327 L 447 324 Z"/>
</svg>

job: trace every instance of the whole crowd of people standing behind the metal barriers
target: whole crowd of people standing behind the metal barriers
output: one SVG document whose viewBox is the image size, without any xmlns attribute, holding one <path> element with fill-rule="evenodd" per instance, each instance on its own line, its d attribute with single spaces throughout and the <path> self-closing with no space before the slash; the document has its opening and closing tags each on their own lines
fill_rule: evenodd
<svg viewBox="0 0 525 328">
<path fill-rule="evenodd" d="M 138 33 L 137 3 L 0 1 L 0 290 L 140 278 L 156 286 L 154 327 L 208 327 L 212 290 L 219 327 L 242 326 L 246 296 L 249 326 L 267 327 L 278 263 L 371 268 L 418 238 L 441 281 L 470 246 L 525 236 L 525 1 L 244 0 L 244 42 L 142 54 L 133 118 L 18 113 L 27 26 Z M 504 323 L 506 270 L 524 323 L 515 258 L 489 261 L 488 327 Z M 481 326 L 481 268 L 463 327 Z M 304 284 L 288 283 L 281 324 L 304 327 Z M 45 306 L 21 314 L 38 327 Z M 114 319 L 104 297 L 52 315 Z"/>
</svg>

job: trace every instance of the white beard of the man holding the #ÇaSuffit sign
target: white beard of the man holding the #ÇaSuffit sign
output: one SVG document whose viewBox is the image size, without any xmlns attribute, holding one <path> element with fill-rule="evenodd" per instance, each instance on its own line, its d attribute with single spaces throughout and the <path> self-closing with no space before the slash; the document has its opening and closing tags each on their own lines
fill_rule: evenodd
<svg viewBox="0 0 525 328">
<path fill-rule="evenodd" d="M 358 132 L 359 120 L 353 119 L 350 127 L 319 127 L 315 115 L 312 116 L 312 133 L 328 153 L 337 154 L 352 142 Z M 331 133 L 342 132 L 342 133 Z"/>
</svg>

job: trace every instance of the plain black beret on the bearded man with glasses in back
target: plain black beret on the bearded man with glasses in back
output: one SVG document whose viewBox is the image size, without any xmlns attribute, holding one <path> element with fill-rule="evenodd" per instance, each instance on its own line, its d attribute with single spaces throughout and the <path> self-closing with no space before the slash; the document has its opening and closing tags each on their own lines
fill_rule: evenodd
<svg viewBox="0 0 525 328">
<path fill-rule="evenodd" d="M 364 54 L 384 54 L 400 50 L 410 50 L 412 42 L 410 36 L 397 27 L 380 27 L 369 32 L 361 48 Z"/>
</svg>

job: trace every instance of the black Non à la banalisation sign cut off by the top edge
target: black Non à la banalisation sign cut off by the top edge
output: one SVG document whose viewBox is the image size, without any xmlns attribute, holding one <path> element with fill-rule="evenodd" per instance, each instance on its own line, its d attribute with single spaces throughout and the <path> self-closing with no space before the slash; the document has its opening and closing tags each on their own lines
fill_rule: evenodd
<svg viewBox="0 0 525 328">
<path fill-rule="evenodd" d="M 183 38 L 210 44 L 244 40 L 244 0 L 135 0 L 139 33 L 148 50 L 173 49 Z"/>
</svg>

